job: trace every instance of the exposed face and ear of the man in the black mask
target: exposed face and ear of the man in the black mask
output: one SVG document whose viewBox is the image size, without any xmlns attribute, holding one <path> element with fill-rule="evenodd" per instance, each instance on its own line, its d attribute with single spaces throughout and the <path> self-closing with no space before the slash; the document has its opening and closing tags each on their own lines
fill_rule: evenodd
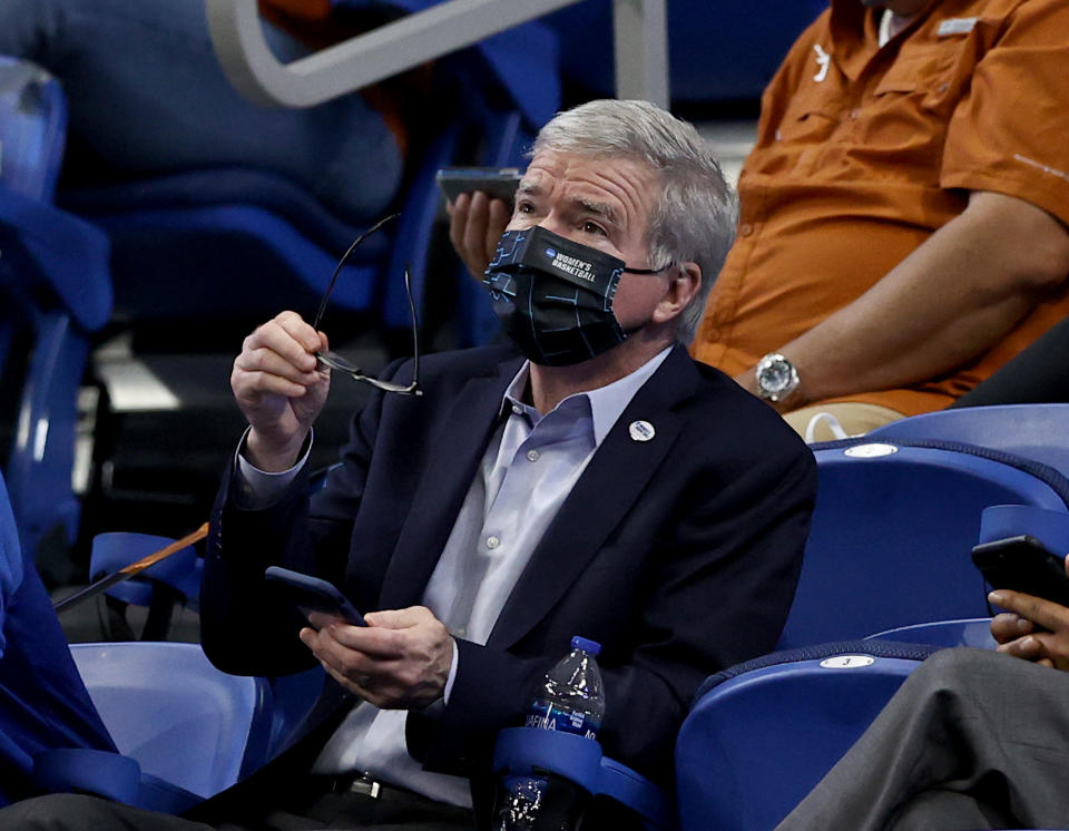
<svg viewBox="0 0 1069 831">
<path fill-rule="evenodd" d="M 659 175 L 643 162 L 541 150 L 517 189 L 509 229 L 541 225 L 629 267 L 657 268 L 666 263 L 649 262 L 646 232 L 659 196 Z M 649 320 L 665 296 L 668 276 L 667 270 L 653 275 L 624 273 L 612 311 L 625 330 Z"/>
</svg>

